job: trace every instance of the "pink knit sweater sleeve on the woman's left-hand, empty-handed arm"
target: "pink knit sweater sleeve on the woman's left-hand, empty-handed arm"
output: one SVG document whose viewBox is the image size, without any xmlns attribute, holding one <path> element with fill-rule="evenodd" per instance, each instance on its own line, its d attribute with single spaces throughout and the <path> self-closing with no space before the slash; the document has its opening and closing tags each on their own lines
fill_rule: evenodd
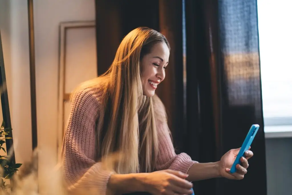
<svg viewBox="0 0 292 195">
<path fill-rule="evenodd" d="M 69 191 L 106 193 L 111 172 L 95 162 L 98 110 L 96 89 L 83 89 L 74 95 L 62 152 L 63 175 Z"/>
</svg>

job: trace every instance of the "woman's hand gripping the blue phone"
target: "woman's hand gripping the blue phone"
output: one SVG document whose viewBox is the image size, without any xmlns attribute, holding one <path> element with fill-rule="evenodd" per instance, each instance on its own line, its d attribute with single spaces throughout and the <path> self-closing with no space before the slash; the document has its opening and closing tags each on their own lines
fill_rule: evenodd
<svg viewBox="0 0 292 195">
<path fill-rule="evenodd" d="M 253 156 L 253 152 L 250 150 L 247 150 L 244 153 L 245 157 L 240 158 L 241 164 L 236 165 L 237 171 L 235 173 L 230 173 L 230 168 L 237 154 L 239 153 L 239 150 L 240 148 L 231 149 L 230 151 L 228 151 L 221 157 L 219 161 L 219 172 L 222 177 L 225 177 L 227 179 L 234 179 L 234 180 L 241 180 L 244 178 L 244 175 L 247 173 L 247 168 L 248 168 L 247 160 Z"/>
</svg>

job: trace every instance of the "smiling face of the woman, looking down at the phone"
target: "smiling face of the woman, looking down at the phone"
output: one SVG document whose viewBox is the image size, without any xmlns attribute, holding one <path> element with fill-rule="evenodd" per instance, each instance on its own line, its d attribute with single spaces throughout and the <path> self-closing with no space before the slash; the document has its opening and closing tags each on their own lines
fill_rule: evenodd
<svg viewBox="0 0 292 195">
<path fill-rule="evenodd" d="M 158 84 L 164 80 L 168 59 L 169 49 L 165 42 L 155 44 L 151 52 L 142 58 L 143 95 L 151 97 L 155 94 Z"/>
</svg>

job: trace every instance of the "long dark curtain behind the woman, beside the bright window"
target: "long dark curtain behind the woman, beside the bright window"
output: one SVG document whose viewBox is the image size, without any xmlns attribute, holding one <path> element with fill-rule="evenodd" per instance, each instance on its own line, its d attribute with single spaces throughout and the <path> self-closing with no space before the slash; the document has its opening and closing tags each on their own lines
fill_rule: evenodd
<svg viewBox="0 0 292 195">
<path fill-rule="evenodd" d="M 121 39 L 139 26 L 171 44 L 166 78 L 157 89 L 174 145 L 199 162 L 219 161 L 259 124 L 248 173 L 194 182 L 195 194 L 267 194 L 258 49 L 252 0 L 96 0 L 98 75 L 112 63 Z"/>
</svg>

